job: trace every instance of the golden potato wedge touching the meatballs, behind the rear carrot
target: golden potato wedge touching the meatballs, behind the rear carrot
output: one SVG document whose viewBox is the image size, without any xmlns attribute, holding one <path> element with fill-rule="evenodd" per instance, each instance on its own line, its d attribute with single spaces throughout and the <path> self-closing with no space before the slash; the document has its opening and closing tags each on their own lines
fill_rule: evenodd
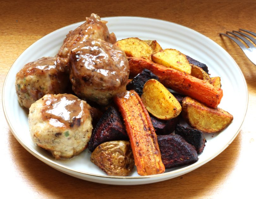
<svg viewBox="0 0 256 199">
<path fill-rule="evenodd" d="M 123 50 L 127 57 L 145 57 L 151 58 L 152 48 L 143 40 L 137 37 L 121 39 L 115 43 Z"/>
</svg>

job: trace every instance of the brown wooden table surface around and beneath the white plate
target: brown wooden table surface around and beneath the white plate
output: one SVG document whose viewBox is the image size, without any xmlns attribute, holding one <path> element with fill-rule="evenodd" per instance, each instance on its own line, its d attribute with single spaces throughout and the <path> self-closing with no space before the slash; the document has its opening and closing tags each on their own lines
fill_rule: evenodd
<svg viewBox="0 0 256 199">
<path fill-rule="evenodd" d="M 96 184 L 47 166 L 15 139 L 1 106 L 1 198 L 246 198 L 255 194 L 256 66 L 220 32 L 244 28 L 256 32 L 256 2 L 251 1 L 0 1 L 0 81 L 15 59 L 36 40 L 97 13 L 142 16 L 192 28 L 222 46 L 235 59 L 247 81 L 247 115 L 235 140 L 200 168 L 167 181 L 139 186 Z M 2 99 L 1 99 L 2 100 Z M 236 105 L 239 106 L 239 105 Z M 235 108 L 235 107 L 234 107 Z M 5 197 L 2 197 L 5 196 Z"/>
</svg>

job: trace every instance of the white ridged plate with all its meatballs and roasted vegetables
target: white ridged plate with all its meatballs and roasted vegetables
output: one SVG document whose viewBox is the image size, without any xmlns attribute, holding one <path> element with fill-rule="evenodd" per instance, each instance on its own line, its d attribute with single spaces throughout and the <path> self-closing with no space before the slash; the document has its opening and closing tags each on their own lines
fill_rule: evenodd
<svg viewBox="0 0 256 199">
<path fill-rule="evenodd" d="M 169 21 L 94 14 L 29 46 L 2 97 L 28 152 L 68 175 L 116 185 L 209 162 L 235 139 L 248 105 L 240 68 L 206 36 Z"/>
</svg>

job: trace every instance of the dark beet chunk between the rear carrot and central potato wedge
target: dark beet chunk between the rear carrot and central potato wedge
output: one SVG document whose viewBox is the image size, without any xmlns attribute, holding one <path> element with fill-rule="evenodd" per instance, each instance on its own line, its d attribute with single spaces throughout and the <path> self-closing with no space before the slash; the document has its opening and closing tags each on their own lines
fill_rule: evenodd
<svg viewBox="0 0 256 199">
<path fill-rule="evenodd" d="M 150 70 L 144 69 L 141 73 L 135 76 L 131 82 L 127 84 L 126 89 L 135 90 L 138 95 L 141 96 L 144 84 L 150 79 L 159 81 L 158 76 L 156 76 Z"/>
</svg>

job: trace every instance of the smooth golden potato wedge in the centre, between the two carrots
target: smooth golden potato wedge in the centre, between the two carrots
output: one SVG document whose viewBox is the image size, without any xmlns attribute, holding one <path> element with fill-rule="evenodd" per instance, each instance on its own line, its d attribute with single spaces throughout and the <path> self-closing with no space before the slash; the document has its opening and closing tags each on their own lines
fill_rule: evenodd
<svg viewBox="0 0 256 199">
<path fill-rule="evenodd" d="M 159 119 L 169 120 L 181 112 L 178 100 L 155 79 L 144 84 L 141 100 L 148 112 Z"/>
</svg>

